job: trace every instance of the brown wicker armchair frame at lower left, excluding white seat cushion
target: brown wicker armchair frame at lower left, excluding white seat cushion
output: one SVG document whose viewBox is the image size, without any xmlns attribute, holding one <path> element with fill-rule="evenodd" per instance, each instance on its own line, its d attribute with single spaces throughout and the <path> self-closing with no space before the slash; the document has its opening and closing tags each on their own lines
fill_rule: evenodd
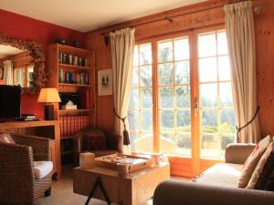
<svg viewBox="0 0 274 205">
<path fill-rule="evenodd" d="M 0 143 L 0 204 L 32 205 L 50 195 L 51 174 L 37 179 L 34 169 L 34 161 L 50 160 L 50 139 L 11 136 L 16 144 Z"/>
</svg>

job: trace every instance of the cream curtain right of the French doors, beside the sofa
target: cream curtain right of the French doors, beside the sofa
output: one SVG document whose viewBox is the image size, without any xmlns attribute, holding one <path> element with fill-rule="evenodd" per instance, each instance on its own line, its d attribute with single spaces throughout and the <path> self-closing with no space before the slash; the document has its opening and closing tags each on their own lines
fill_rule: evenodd
<svg viewBox="0 0 274 205">
<path fill-rule="evenodd" d="M 227 46 L 237 127 L 245 126 L 257 109 L 255 35 L 252 2 L 225 5 Z M 237 142 L 260 139 L 258 117 L 238 133 Z"/>
</svg>

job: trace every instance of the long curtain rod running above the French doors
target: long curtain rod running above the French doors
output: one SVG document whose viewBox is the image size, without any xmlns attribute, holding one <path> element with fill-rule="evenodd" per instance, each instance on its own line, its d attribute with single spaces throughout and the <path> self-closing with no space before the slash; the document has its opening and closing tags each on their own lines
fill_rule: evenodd
<svg viewBox="0 0 274 205">
<path fill-rule="evenodd" d="M 246 0 L 244 0 L 246 1 Z M 243 2 L 243 1 L 237 1 L 237 2 L 232 2 L 232 3 L 228 3 L 227 5 L 232 5 L 232 4 L 235 4 L 235 3 L 238 3 L 238 2 Z M 258 6 L 258 5 L 256 5 Z M 262 5 L 259 5 L 260 7 L 258 8 L 258 11 L 257 12 L 260 12 L 261 8 L 262 8 Z M 110 32 L 115 32 L 117 30 L 120 30 L 120 29 L 123 29 L 123 28 L 126 28 L 126 27 L 137 27 L 137 26 L 143 26 L 143 25 L 149 25 L 149 24 L 153 24 L 155 22 L 159 22 L 159 21 L 169 21 L 169 22 L 173 22 L 173 18 L 176 18 L 176 17 L 179 17 L 179 16 L 183 16 L 183 15 L 193 15 L 193 14 L 196 14 L 196 13 L 200 13 L 200 12 L 205 12 L 205 11 L 208 11 L 208 10 L 212 10 L 212 9 L 216 9 L 216 8 L 221 8 L 221 7 L 224 7 L 224 5 L 216 5 L 216 6 L 213 6 L 213 7 L 209 7 L 209 8 L 204 8 L 204 9 L 200 9 L 200 10 L 197 10 L 197 11 L 192 11 L 192 12 L 186 12 L 184 14 L 179 14 L 179 15 L 170 15 L 170 16 L 165 16 L 163 18 L 159 18 L 159 19 L 155 19 L 155 20 L 152 20 L 152 21 L 148 21 L 148 22 L 142 22 L 142 23 L 136 23 L 136 24 L 132 24 L 131 26 L 121 26 L 121 27 L 118 27 L 118 28 L 114 28 L 112 29 L 111 31 L 109 32 L 103 32 L 100 34 L 100 36 L 106 36 L 106 35 L 109 35 Z M 255 7 L 256 8 L 256 7 Z"/>
</svg>

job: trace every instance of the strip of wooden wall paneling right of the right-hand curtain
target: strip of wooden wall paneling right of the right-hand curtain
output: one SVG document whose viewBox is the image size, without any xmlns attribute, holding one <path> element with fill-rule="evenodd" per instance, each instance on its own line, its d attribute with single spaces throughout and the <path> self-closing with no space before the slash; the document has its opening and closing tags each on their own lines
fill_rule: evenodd
<svg viewBox="0 0 274 205">
<path fill-rule="evenodd" d="M 274 4 L 272 0 L 256 0 L 263 6 L 255 15 L 257 98 L 261 137 L 274 135 Z"/>
</svg>

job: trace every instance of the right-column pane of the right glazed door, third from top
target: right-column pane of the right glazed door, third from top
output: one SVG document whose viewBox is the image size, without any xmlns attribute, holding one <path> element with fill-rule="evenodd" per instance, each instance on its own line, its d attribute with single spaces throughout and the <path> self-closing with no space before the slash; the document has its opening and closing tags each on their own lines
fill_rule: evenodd
<svg viewBox="0 0 274 205">
<path fill-rule="evenodd" d="M 220 106 L 233 107 L 232 87 L 230 83 L 220 83 Z"/>
</svg>

